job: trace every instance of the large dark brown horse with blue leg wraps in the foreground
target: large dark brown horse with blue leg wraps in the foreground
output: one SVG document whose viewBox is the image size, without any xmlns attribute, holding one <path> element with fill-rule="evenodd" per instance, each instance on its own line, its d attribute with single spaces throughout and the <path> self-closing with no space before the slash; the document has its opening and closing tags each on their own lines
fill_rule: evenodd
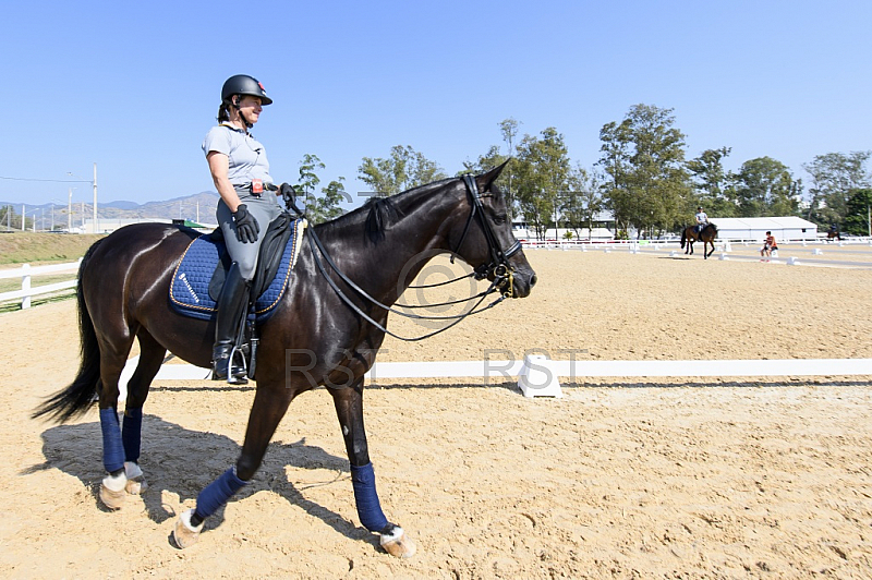
<svg viewBox="0 0 872 580">
<path fill-rule="evenodd" d="M 416 188 L 316 226 L 323 250 L 306 234 L 311 243 L 302 244 L 278 310 L 259 328 L 257 386 L 239 459 L 199 493 L 196 509 L 177 521 L 178 547 L 194 543 L 205 518 L 252 479 L 290 402 L 326 385 L 351 463 L 361 523 L 380 534 L 388 553 L 414 553 L 402 529 L 383 513 L 376 494 L 363 425 L 363 378 L 385 337 L 387 307 L 429 256 L 457 255 L 504 295 L 530 293 L 536 277 L 512 235 L 506 200 L 494 185 L 501 169 Z M 181 316 L 169 302 L 173 270 L 196 235 L 175 226 L 128 226 L 95 243 L 80 269 L 78 375 L 35 415 L 66 421 L 98 399 L 108 472 L 99 495 L 110 508 L 138 490 L 132 478 L 142 475 L 142 408 L 166 352 L 197 366 L 210 364 L 214 317 Z M 128 384 L 122 424 L 117 414 L 119 377 L 134 338 L 141 354 Z"/>
</svg>

